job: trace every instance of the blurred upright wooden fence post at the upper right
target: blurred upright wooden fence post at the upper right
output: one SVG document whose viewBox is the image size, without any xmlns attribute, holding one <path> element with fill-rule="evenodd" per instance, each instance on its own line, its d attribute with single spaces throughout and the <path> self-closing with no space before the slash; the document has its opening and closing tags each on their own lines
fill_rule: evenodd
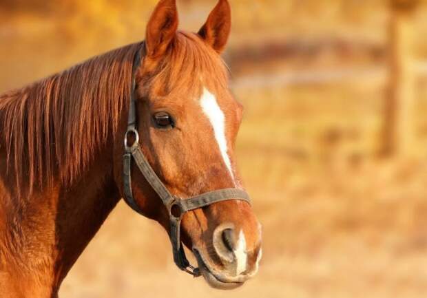
<svg viewBox="0 0 427 298">
<path fill-rule="evenodd" d="M 414 138 L 413 14 L 419 1 L 388 1 L 391 12 L 388 28 L 390 55 L 382 152 L 386 156 L 406 156 Z"/>
</svg>

